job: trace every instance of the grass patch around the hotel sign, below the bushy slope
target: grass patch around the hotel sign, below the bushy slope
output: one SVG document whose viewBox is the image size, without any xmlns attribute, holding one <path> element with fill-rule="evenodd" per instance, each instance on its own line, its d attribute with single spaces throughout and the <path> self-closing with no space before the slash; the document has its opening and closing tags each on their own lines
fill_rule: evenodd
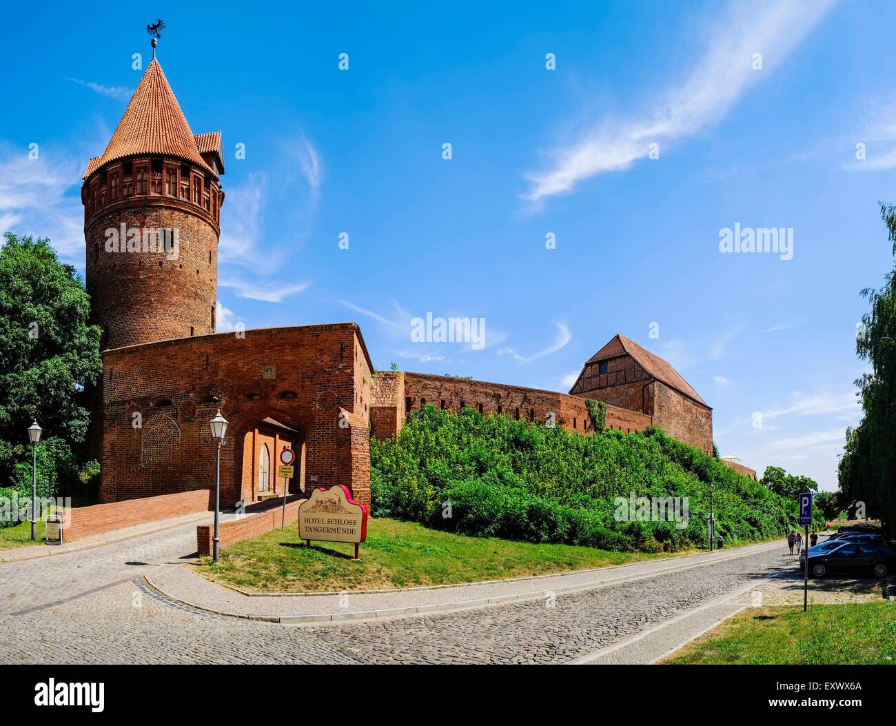
<svg viewBox="0 0 896 726">
<path fill-rule="evenodd" d="M 222 549 L 218 566 L 211 557 L 202 557 L 194 569 L 244 590 L 322 592 L 470 583 L 670 557 L 466 537 L 384 517 L 368 520 L 361 558 L 354 559 L 354 553 L 354 545 L 340 542 L 306 547 L 292 523 L 284 532 L 267 532 Z"/>
</svg>

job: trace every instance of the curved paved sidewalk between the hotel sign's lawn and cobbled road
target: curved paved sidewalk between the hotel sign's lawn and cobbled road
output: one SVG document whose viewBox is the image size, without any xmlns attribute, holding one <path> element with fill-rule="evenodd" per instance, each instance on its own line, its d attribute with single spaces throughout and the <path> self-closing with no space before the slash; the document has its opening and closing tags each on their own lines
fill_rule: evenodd
<svg viewBox="0 0 896 726">
<path fill-rule="evenodd" d="M 766 542 L 561 575 L 387 591 L 247 593 L 212 583 L 185 566 L 147 575 L 145 579 L 154 590 L 172 601 L 219 615 L 274 623 L 324 623 L 360 618 L 390 618 L 544 598 L 550 594 L 632 582 L 726 559 L 747 557 L 780 546 L 780 541 Z"/>
</svg>

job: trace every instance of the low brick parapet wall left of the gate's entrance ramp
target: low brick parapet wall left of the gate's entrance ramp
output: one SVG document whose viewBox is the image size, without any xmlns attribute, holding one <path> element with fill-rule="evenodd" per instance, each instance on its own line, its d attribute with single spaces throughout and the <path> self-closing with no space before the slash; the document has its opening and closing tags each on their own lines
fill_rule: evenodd
<svg viewBox="0 0 896 726">
<path fill-rule="evenodd" d="M 204 512 L 210 508 L 209 492 L 205 490 L 82 506 L 68 513 L 63 537 L 66 541 L 79 540 L 91 534 L 110 532 L 134 524 L 155 522 L 191 512 Z"/>
</svg>

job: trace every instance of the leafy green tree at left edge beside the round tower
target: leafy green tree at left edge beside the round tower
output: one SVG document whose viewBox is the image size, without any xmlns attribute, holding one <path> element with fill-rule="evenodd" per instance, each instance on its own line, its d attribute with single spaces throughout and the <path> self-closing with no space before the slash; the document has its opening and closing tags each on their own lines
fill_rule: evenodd
<svg viewBox="0 0 896 726">
<path fill-rule="evenodd" d="M 44 429 L 38 450 L 45 495 L 77 480 L 89 412 L 79 402 L 99 380 L 99 327 L 74 268 L 49 240 L 6 233 L 0 247 L 0 487 L 27 488 L 27 428 Z"/>
</svg>

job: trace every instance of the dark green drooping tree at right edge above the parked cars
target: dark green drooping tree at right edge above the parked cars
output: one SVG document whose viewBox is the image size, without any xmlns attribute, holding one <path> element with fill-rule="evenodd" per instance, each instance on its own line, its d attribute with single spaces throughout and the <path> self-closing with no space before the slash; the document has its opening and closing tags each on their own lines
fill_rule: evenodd
<svg viewBox="0 0 896 726">
<path fill-rule="evenodd" d="M 896 255 L 896 206 L 881 203 L 892 254 Z M 863 416 L 847 429 L 840 459 L 840 491 L 844 501 L 864 502 L 868 516 L 896 533 L 896 267 L 883 278 L 879 290 L 866 288 L 862 296 L 871 309 L 862 316 L 856 352 L 871 371 L 856 381 Z"/>
</svg>

